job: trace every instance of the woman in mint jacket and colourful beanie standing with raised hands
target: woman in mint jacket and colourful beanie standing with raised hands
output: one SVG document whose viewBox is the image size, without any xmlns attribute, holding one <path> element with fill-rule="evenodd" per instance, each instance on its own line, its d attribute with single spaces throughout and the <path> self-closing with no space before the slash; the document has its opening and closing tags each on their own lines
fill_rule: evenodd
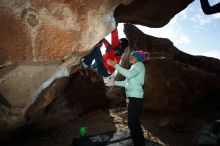
<svg viewBox="0 0 220 146">
<path fill-rule="evenodd" d="M 149 54 L 143 51 L 134 51 L 129 58 L 131 68 L 129 70 L 124 69 L 113 60 L 108 60 L 108 64 L 126 77 L 124 81 L 109 82 L 109 86 L 121 86 L 125 88 L 126 96 L 129 99 L 128 103 L 128 127 L 130 129 L 131 137 L 134 142 L 134 146 L 144 146 L 144 135 L 141 129 L 139 121 L 141 108 L 143 105 L 144 97 L 144 78 L 145 78 L 145 66 L 143 61 L 148 59 Z"/>
</svg>

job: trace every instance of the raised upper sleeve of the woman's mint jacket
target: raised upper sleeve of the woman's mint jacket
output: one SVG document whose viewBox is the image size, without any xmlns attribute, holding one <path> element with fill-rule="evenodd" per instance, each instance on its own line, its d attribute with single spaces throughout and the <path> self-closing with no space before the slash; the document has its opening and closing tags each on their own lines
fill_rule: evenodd
<svg viewBox="0 0 220 146">
<path fill-rule="evenodd" d="M 125 76 L 126 78 L 130 79 L 135 77 L 136 75 L 139 74 L 139 69 L 137 67 L 133 67 L 130 70 L 124 69 L 123 67 L 121 67 L 119 64 L 115 65 L 115 69 L 122 74 L 123 76 Z"/>
</svg>

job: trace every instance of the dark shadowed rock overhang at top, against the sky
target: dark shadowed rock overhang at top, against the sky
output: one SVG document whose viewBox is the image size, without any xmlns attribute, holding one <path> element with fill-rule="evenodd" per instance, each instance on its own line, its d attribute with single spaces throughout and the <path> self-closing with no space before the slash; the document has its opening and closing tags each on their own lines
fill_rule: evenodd
<svg viewBox="0 0 220 146">
<path fill-rule="evenodd" d="M 193 0 L 134 0 L 128 6 L 120 5 L 115 10 L 119 22 L 162 27 Z"/>
</svg>

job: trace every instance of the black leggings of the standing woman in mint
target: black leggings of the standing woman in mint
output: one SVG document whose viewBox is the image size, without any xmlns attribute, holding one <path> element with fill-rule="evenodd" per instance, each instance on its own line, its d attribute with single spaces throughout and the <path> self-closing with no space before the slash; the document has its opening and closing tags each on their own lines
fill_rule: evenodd
<svg viewBox="0 0 220 146">
<path fill-rule="evenodd" d="M 144 146 L 144 135 L 139 121 L 143 98 L 129 97 L 128 99 L 128 127 L 134 146 Z"/>
</svg>

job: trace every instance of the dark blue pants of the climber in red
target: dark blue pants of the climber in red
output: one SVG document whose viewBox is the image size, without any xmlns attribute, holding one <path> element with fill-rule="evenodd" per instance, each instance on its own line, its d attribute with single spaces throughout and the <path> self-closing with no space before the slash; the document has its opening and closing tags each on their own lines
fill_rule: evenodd
<svg viewBox="0 0 220 146">
<path fill-rule="evenodd" d="M 99 47 L 94 48 L 87 56 L 84 57 L 83 63 L 87 66 L 92 67 L 92 62 L 95 60 L 95 67 L 97 68 L 98 73 L 103 77 L 108 77 L 107 69 L 103 64 L 102 53 Z"/>
</svg>

